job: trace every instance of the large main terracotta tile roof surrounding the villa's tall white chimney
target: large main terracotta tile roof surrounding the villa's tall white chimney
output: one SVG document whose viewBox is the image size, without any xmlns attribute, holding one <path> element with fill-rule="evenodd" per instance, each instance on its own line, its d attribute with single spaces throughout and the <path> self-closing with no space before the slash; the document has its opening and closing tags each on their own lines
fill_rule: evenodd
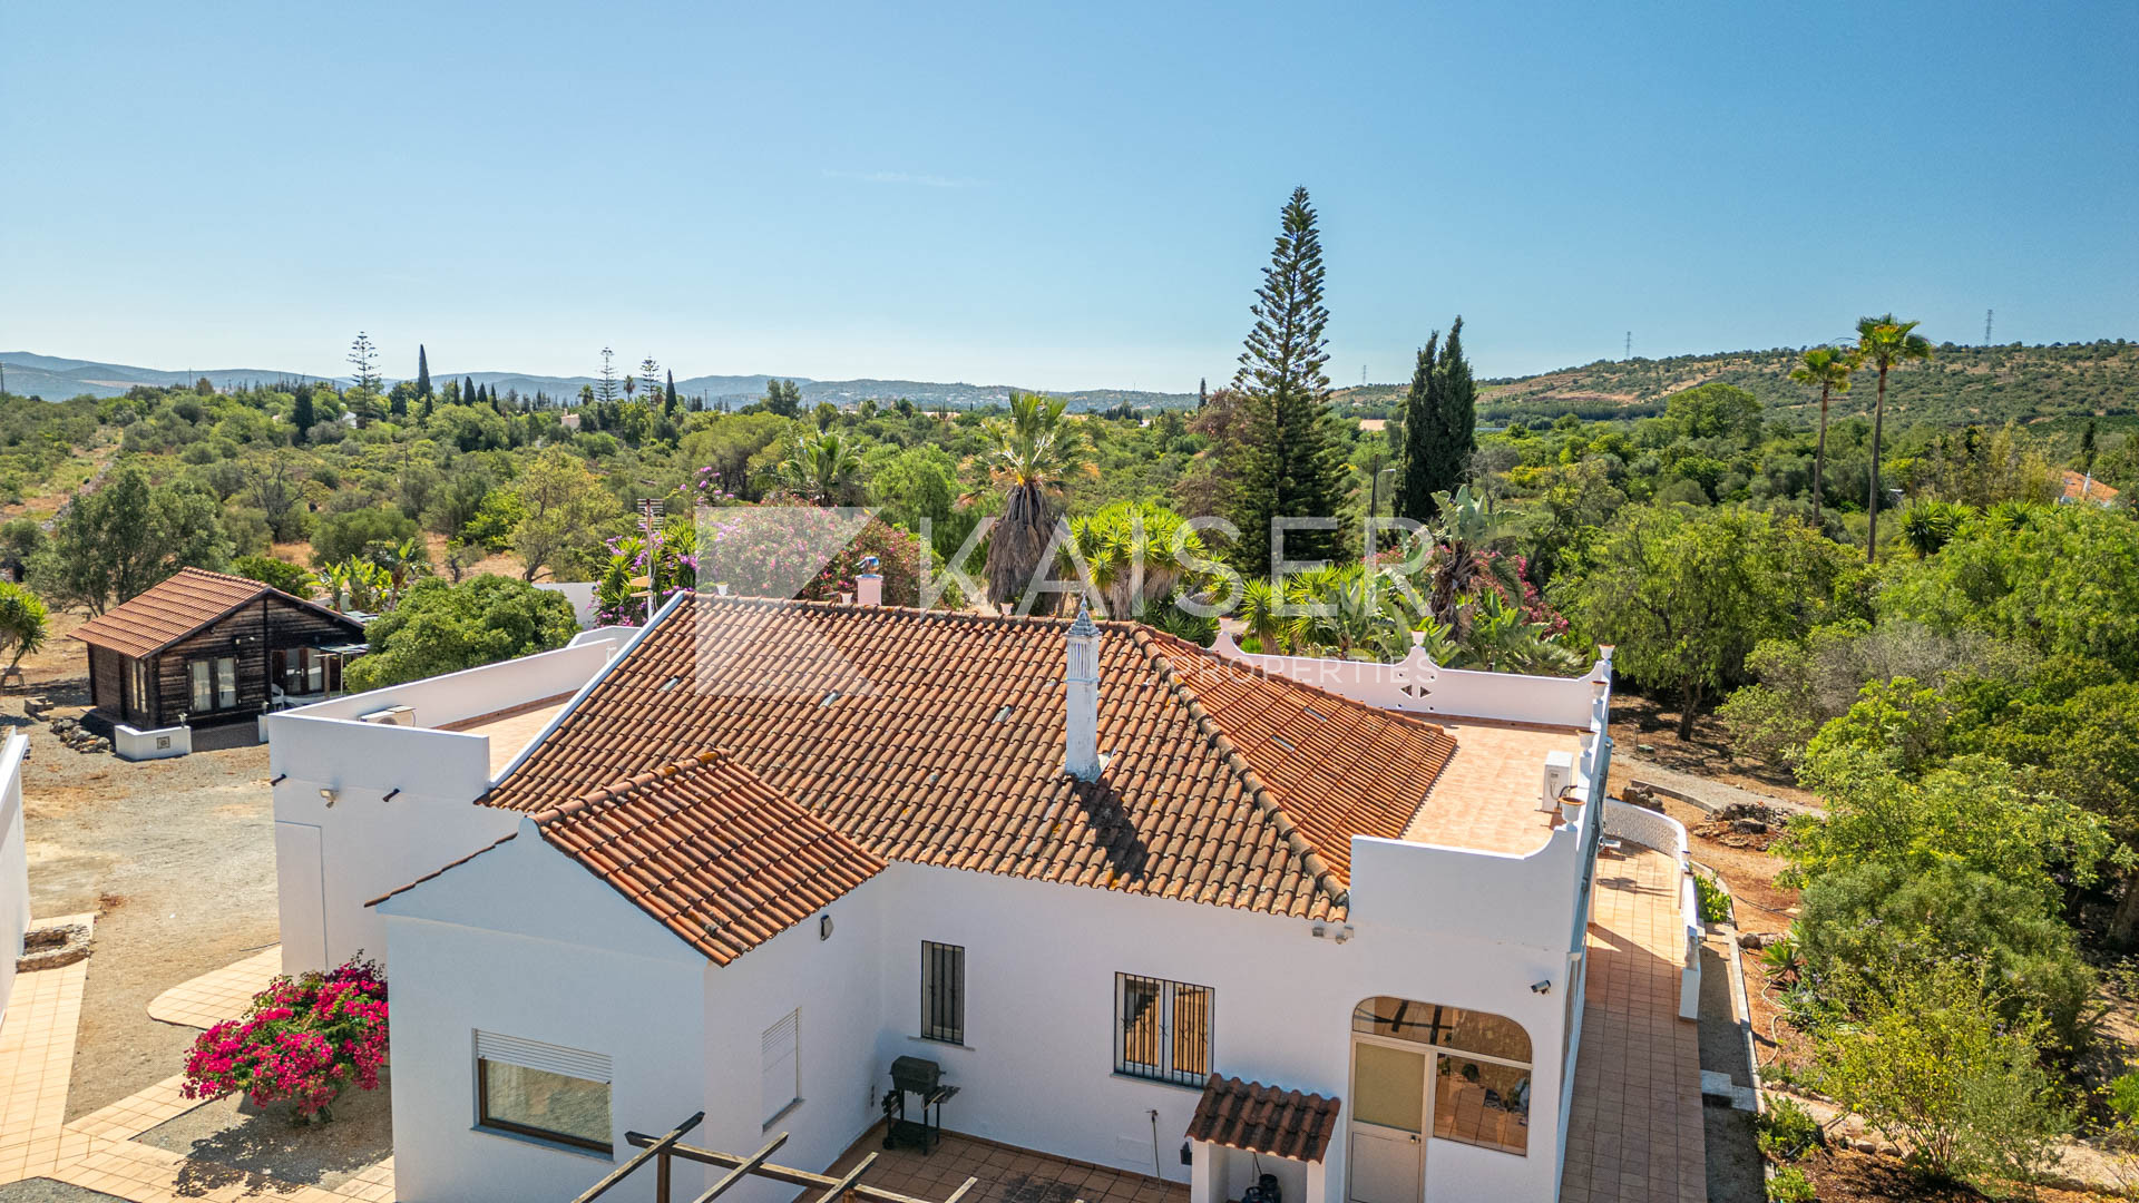
<svg viewBox="0 0 2139 1203">
<path fill-rule="evenodd" d="M 486 803 L 548 809 L 719 743 L 883 861 L 1324 918 L 1352 835 L 1401 837 L 1455 753 L 1433 724 L 1099 623 L 1106 771 L 1078 781 L 1067 625 L 687 597 Z"/>
</svg>

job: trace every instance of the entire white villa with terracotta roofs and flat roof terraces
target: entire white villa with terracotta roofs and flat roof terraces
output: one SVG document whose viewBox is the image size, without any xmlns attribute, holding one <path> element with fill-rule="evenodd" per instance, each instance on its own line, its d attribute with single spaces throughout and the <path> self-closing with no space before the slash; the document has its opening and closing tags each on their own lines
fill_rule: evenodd
<svg viewBox="0 0 2139 1203">
<path fill-rule="evenodd" d="M 1604 798 L 1609 698 L 1609 651 L 1544 679 L 678 597 L 270 715 L 284 968 L 387 961 L 406 1201 L 573 1199 L 697 1111 L 830 1167 L 894 1062 L 956 1087 L 948 1130 L 1194 1203 L 1613 1199 L 1596 897 L 1651 882 L 1606 950 L 1666 1036 L 1698 927 L 1683 831 Z M 1626 1197 L 1698 1199 L 1679 1173 Z"/>
</svg>

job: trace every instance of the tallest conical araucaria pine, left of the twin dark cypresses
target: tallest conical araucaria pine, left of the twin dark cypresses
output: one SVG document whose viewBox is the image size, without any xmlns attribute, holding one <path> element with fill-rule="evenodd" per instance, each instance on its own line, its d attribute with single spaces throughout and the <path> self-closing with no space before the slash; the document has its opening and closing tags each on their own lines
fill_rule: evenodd
<svg viewBox="0 0 2139 1203">
<path fill-rule="evenodd" d="M 1273 518 L 1335 518 L 1343 465 L 1330 439 L 1328 310 L 1322 308 L 1322 238 L 1307 188 L 1286 201 L 1283 225 L 1249 310 L 1256 325 L 1241 351 L 1234 387 L 1247 398 L 1249 435 L 1228 450 L 1234 479 L 1232 520 L 1241 527 L 1241 567 L 1271 565 Z M 1292 529 L 1288 561 L 1335 559 L 1339 531 Z"/>
</svg>

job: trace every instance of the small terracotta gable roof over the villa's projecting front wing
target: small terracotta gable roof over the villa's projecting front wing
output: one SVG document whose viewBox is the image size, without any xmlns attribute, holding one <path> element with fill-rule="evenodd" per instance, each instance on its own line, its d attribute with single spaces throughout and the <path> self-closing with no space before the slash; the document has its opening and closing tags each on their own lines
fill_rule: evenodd
<svg viewBox="0 0 2139 1203">
<path fill-rule="evenodd" d="M 725 751 L 661 764 L 528 818 L 545 843 L 719 965 L 883 871 L 883 861 Z"/>
</svg>

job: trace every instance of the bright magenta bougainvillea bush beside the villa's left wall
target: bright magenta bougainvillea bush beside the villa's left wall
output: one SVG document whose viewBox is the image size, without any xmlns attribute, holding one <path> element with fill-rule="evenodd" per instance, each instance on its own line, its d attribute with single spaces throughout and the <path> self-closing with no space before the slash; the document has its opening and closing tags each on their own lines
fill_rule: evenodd
<svg viewBox="0 0 2139 1203">
<path fill-rule="evenodd" d="M 186 1098 L 244 1094 L 291 1102 L 293 1120 L 327 1122 L 349 1090 L 379 1090 L 387 1064 L 387 978 L 351 957 L 325 974 L 276 978 L 244 1019 L 201 1032 L 186 1053 Z"/>
</svg>

